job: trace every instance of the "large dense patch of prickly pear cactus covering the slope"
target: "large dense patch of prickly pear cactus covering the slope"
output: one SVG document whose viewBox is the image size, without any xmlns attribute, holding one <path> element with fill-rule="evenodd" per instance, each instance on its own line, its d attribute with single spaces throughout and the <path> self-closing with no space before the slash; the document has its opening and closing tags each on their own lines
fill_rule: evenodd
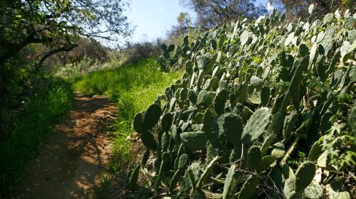
<svg viewBox="0 0 356 199">
<path fill-rule="evenodd" d="M 154 197 L 354 194 L 356 15 L 285 17 L 224 23 L 172 57 L 162 46 L 162 63 L 184 60 L 184 75 L 133 120 L 154 156 L 141 166 Z"/>
</svg>

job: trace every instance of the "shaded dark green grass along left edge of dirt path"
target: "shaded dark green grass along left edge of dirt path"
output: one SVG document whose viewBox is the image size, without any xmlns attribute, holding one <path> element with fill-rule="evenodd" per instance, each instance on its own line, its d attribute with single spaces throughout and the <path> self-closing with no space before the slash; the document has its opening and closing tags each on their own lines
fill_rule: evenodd
<svg viewBox="0 0 356 199">
<path fill-rule="evenodd" d="M 44 79 L 44 78 L 43 78 Z M 8 186 L 19 181 L 50 125 L 67 112 L 73 102 L 71 85 L 60 79 L 41 80 L 42 90 L 23 101 L 23 111 L 12 119 L 14 129 L 0 141 L 0 198 Z"/>
</svg>

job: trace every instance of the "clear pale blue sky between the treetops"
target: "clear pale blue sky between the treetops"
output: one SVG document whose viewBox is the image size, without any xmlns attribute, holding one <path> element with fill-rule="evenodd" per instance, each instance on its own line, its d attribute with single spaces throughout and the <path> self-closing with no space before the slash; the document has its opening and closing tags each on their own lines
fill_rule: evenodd
<svg viewBox="0 0 356 199">
<path fill-rule="evenodd" d="M 257 4 L 266 4 L 268 0 L 257 0 Z M 165 38 L 167 31 L 177 24 L 180 12 L 194 12 L 179 5 L 179 0 L 132 0 L 127 17 L 136 26 L 132 42 L 155 41 Z"/>
</svg>

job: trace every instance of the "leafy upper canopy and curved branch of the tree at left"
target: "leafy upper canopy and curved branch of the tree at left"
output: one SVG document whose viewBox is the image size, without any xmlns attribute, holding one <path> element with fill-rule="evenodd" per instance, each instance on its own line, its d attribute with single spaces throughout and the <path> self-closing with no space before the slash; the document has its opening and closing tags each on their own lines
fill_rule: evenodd
<svg viewBox="0 0 356 199">
<path fill-rule="evenodd" d="M 0 0 L 0 65 L 30 43 L 51 50 L 33 70 L 53 53 L 75 48 L 78 36 L 119 41 L 132 28 L 123 15 L 126 0 Z"/>
</svg>

